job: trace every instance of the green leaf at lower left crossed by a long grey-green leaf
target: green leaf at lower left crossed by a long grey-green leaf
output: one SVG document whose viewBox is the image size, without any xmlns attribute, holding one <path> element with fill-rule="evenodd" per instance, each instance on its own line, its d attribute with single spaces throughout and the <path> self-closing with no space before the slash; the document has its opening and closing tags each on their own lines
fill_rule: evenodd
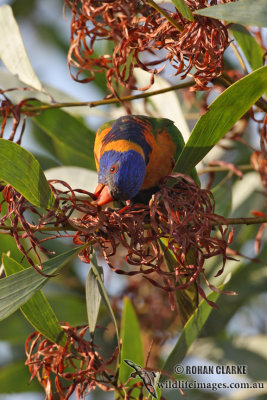
<svg viewBox="0 0 267 400">
<path fill-rule="evenodd" d="M 3 255 L 3 265 L 7 276 L 25 269 L 6 254 Z M 63 329 L 41 290 L 36 292 L 32 298 L 21 307 L 21 311 L 30 324 L 47 339 L 54 343 L 61 344 L 62 346 L 65 345 L 66 336 Z"/>
</svg>

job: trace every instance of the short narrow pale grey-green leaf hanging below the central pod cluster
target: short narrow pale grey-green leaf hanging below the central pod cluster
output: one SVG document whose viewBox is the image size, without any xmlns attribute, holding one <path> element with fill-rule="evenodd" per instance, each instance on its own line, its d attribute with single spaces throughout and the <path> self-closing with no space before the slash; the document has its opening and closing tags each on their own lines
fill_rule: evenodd
<svg viewBox="0 0 267 400">
<path fill-rule="evenodd" d="M 89 331 L 91 334 L 94 333 L 97 317 L 101 302 L 101 292 L 99 290 L 98 276 L 100 276 L 103 282 L 103 268 L 97 265 L 97 260 L 95 254 L 91 257 L 91 265 L 98 270 L 98 275 L 95 275 L 92 267 L 88 271 L 88 275 L 85 282 L 85 293 L 86 293 L 86 307 L 88 316 Z"/>
</svg>

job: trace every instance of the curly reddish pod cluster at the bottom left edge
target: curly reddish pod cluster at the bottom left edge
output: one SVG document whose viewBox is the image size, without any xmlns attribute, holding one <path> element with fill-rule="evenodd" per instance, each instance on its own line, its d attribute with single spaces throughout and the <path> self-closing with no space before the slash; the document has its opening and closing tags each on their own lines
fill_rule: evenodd
<svg viewBox="0 0 267 400">
<path fill-rule="evenodd" d="M 62 325 L 67 336 L 64 347 L 50 342 L 39 332 L 32 333 L 25 343 L 31 381 L 37 378 L 52 400 L 53 392 L 59 399 L 68 400 L 76 390 L 77 399 L 96 387 L 104 391 L 114 390 L 116 376 L 109 366 L 116 360 L 118 348 L 108 361 L 104 361 L 95 345 L 85 340 L 88 325 L 71 327 Z"/>
</svg>

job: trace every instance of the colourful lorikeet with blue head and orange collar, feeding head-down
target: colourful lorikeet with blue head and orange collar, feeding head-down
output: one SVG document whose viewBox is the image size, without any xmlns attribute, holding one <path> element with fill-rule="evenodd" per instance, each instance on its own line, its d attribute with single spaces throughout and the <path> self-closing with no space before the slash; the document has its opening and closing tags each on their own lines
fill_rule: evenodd
<svg viewBox="0 0 267 400">
<path fill-rule="evenodd" d="M 94 146 L 95 204 L 147 203 L 183 147 L 183 137 L 169 119 L 130 115 L 105 123 L 96 133 Z"/>
</svg>

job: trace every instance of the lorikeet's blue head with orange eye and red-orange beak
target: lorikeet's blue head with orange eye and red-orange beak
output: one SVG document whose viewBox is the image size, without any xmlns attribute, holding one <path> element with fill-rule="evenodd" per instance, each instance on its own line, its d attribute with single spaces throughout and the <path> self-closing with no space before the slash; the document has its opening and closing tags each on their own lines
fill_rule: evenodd
<svg viewBox="0 0 267 400">
<path fill-rule="evenodd" d="M 130 200 L 140 191 L 146 173 L 146 163 L 135 150 L 109 150 L 102 154 L 95 191 L 98 205 L 113 200 Z"/>
</svg>

